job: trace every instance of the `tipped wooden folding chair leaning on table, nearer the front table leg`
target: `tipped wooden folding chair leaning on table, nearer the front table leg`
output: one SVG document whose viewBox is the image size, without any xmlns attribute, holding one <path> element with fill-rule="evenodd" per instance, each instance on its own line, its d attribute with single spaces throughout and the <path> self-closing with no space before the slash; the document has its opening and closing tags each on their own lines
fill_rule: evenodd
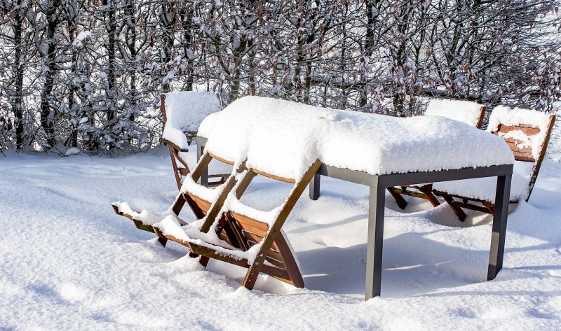
<svg viewBox="0 0 561 331">
<path fill-rule="evenodd" d="M 285 283 L 290 283 L 293 286 L 302 288 L 304 287 L 302 274 L 299 271 L 288 240 L 281 228 L 309 181 L 311 181 L 313 175 L 318 171 L 320 165 L 321 162 L 319 160 L 314 162 L 299 181 L 292 178 L 282 178 L 257 169 L 247 169 L 245 174 L 239 179 L 235 192 L 236 199 L 239 199 L 243 195 L 243 192 L 248 188 L 252 178 L 257 176 L 257 174 L 276 181 L 294 183 L 294 187 L 280 206 L 280 211 L 270 222 L 250 218 L 234 209 L 227 209 L 222 215 L 215 217 L 215 212 L 222 209 L 224 204 L 213 204 L 211 206 L 205 223 L 201 227 L 201 232 L 206 233 L 212 229 L 213 226 L 215 226 L 215 229 L 228 227 L 233 230 L 234 236 L 233 238 L 229 238 L 228 241 L 224 241 L 227 241 L 229 246 L 234 246 L 236 249 L 220 246 L 217 245 L 217 243 L 201 244 L 201 239 L 195 242 L 182 240 L 173 236 L 165 237 L 187 246 L 191 253 L 248 268 L 248 272 L 246 272 L 242 283 L 242 285 L 248 289 L 252 289 L 255 286 L 257 276 L 260 272 L 269 274 Z M 218 201 L 225 201 L 228 194 L 227 190 L 222 191 Z M 233 197 L 230 198 L 234 199 Z M 197 197 L 192 193 L 189 197 L 186 197 L 186 199 L 188 202 L 192 200 L 201 204 L 205 203 L 204 201 L 201 202 L 201 200 L 203 200 L 201 197 Z M 245 206 L 245 210 L 248 209 L 250 209 L 250 207 Z M 221 239 L 226 239 L 226 235 L 223 235 Z M 251 252 L 251 254 L 243 255 L 243 253 L 240 254 L 240 252 Z"/>
</svg>

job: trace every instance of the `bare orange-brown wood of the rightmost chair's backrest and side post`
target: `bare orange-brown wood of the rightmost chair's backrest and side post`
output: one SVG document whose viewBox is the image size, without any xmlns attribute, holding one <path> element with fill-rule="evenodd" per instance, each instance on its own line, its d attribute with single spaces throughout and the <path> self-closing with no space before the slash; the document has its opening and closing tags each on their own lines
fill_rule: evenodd
<svg viewBox="0 0 561 331">
<path fill-rule="evenodd" d="M 515 161 L 534 163 L 534 166 L 532 167 L 532 172 L 530 174 L 529 192 L 528 192 L 528 196 L 526 197 L 526 201 L 528 201 L 530 195 L 532 194 L 532 189 L 534 188 L 534 183 L 536 183 L 536 179 L 538 178 L 541 163 L 543 162 L 543 159 L 546 157 L 547 147 L 548 147 L 554 122 L 555 122 L 555 115 L 550 115 L 548 126 L 545 128 L 546 135 L 539 147 L 539 153 L 537 158 L 534 157 L 535 153 L 532 146 L 525 146 L 522 143 L 522 141 L 518 139 L 513 139 L 512 137 L 505 138 L 503 137 L 503 134 L 506 134 L 511 131 L 519 130 L 523 132 L 525 136 L 532 137 L 535 136 L 536 134 L 541 133 L 539 127 L 533 127 L 532 125 L 527 125 L 527 124 L 520 124 L 520 125 L 499 124 L 498 129 L 492 132 L 492 134 L 501 136 L 501 138 L 503 138 L 504 141 L 506 141 L 508 147 L 510 147 L 511 150 L 513 151 Z"/>
</svg>

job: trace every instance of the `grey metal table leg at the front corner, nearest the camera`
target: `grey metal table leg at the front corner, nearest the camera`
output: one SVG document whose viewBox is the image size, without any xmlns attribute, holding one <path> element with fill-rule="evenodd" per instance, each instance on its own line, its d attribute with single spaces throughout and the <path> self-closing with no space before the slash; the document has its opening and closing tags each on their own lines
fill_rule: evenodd
<svg viewBox="0 0 561 331">
<path fill-rule="evenodd" d="M 380 295 L 381 258 L 384 241 L 384 202 L 386 188 L 370 187 L 368 241 L 366 250 L 365 300 Z"/>
</svg>

